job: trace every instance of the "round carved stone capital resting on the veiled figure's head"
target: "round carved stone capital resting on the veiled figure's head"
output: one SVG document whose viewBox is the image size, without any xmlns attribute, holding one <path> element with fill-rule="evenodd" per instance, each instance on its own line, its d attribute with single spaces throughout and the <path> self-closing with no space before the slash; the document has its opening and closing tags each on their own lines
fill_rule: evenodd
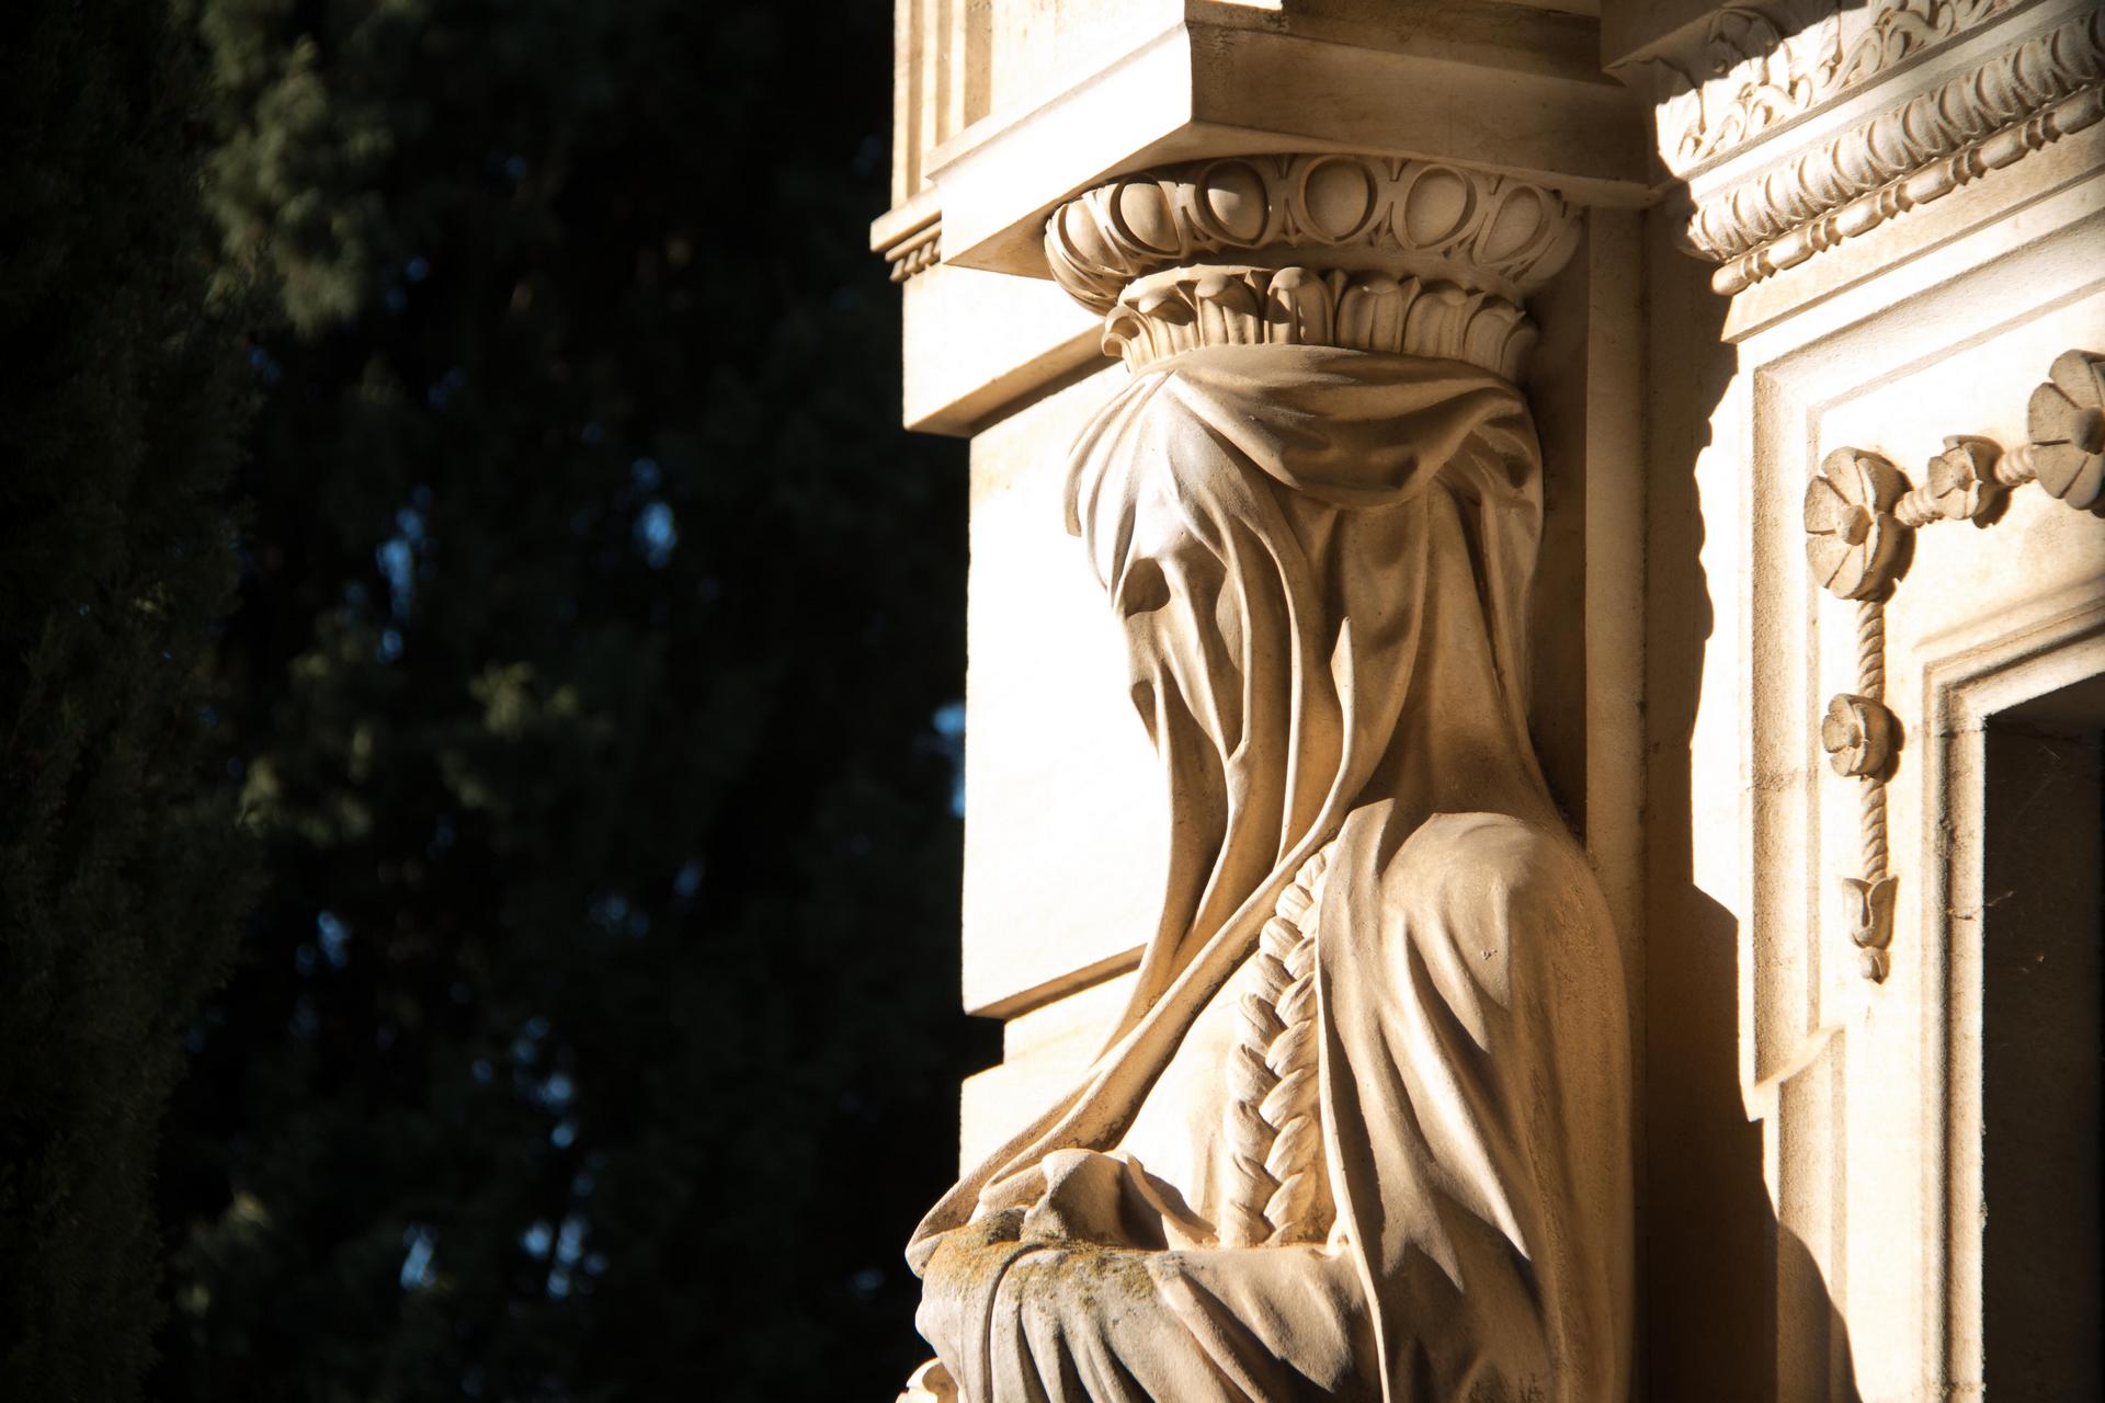
<svg viewBox="0 0 2105 1403">
<path fill-rule="evenodd" d="M 1503 175 L 1387 156 L 1248 156 L 1130 175 L 1046 225 L 1052 276 L 1141 368 L 1200 345 L 1339 345 L 1520 379 L 1522 299 L 1579 210 Z"/>
</svg>

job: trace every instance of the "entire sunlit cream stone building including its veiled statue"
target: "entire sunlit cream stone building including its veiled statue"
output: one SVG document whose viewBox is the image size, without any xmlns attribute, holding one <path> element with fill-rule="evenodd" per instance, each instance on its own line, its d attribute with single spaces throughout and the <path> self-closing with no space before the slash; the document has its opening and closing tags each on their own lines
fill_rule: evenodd
<svg viewBox="0 0 2105 1403">
<path fill-rule="evenodd" d="M 2105 1397 L 2101 78 L 901 0 L 1006 1026 L 903 1397 Z"/>
</svg>

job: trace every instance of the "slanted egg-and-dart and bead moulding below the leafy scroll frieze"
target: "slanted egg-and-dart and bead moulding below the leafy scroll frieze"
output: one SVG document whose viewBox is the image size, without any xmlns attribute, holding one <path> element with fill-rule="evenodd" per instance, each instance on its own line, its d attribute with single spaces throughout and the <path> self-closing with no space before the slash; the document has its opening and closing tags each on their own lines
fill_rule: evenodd
<svg viewBox="0 0 2105 1403">
<path fill-rule="evenodd" d="M 1688 242 L 1724 265 L 1711 286 L 1739 292 L 2101 116 L 2105 11 L 2092 11 L 1699 200 Z"/>
</svg>

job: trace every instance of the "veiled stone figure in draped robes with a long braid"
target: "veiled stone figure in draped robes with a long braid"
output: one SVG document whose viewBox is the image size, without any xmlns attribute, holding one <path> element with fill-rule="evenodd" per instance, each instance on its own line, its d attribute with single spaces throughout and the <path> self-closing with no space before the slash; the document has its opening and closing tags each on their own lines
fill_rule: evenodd
<svg viewBox="0 0 2105 1403">
<path fill-rule="evenodd" d="M 1168 883 L 1082 1085 L 914 1235 L 941 1371 L 968 1403 L 1623 1399 L 1623 972 L 1528 740 L 1518 389 L 1200 347 L 1097 414 L 1067 501 Z"/>
</svg>

